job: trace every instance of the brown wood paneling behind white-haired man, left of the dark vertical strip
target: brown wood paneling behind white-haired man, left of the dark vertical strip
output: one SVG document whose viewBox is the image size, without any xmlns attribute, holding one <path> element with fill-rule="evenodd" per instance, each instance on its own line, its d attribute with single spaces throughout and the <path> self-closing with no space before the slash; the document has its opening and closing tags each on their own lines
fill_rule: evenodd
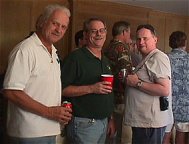
<svg viewBox="0 0 189 144">
<path fill-rule="evenodd" d="M 67 0 L 1 0 L 0 12 L 0 73 L 7 66 L 8 55 L 14 46 L 35 30 L 35 22 L 41 11 L 50 3 L 64 4 Z M 69 30 L 68 30 L 69 31 Z M 57 43 L 61 54 L 67 54 L 68 34 Z"/>
</svg>

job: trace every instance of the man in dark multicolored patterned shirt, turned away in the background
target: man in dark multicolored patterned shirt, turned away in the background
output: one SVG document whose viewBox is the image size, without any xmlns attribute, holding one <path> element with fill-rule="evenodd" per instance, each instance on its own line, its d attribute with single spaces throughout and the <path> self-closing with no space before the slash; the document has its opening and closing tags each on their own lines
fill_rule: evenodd
<svg viewBox="0 0 189 144">
<path fill-rule="evenodd" d="M 130 24 L 126 21 L 114 23 L 112 28 L 113 40 L 110 41 L 104 54 L 111 62 L 111 69 L 114 74 L 114 94 L 116 104 L 123 104 L 124 88 L 123 82 L 119 80 L 119 73 L 122 69 L 127 72 L 132 70 L 131 55 L 128 44 L 130 43 Z"/>
</svg>

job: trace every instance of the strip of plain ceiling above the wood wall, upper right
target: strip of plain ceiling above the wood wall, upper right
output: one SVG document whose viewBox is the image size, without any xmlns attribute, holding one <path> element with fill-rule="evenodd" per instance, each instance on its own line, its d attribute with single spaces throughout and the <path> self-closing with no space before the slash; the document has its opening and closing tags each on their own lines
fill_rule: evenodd
<svg viewBox="0 0 189 144">
<path fill-rule="evenodd" d="M 189 16 L 189 0 L 103 0 Z"/>
</svg>

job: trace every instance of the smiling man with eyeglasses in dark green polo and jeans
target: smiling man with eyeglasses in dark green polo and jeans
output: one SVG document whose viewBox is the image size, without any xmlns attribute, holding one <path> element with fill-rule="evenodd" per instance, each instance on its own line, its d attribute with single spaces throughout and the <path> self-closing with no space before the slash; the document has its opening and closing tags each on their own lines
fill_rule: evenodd
<svg viewBox="0 0 189 144">
<path fill-rule="evenodd" d="M 103 144 L 115 133 L 112 87 L 101 81 L 111 74 L 109 61 L 102 54 L 106 24 L 99 18 L 84 22 L 86 46 L 73 51 L 62 67 L 63 96 L 73 105 L 73 119 L 67 126 L 71 143 Z"/>
</svg>

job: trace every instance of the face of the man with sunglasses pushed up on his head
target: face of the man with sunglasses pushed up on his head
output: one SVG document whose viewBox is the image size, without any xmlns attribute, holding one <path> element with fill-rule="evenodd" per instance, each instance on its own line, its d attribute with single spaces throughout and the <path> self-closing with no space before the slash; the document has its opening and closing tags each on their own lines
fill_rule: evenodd
<svg viewBox="0 0 189 144">
<path fill-rule="evenodd" d="M 147 55 L 156 48 L 157 37 L 150 30 L 142 28 L 137 32 L 136 44 L 142 55 Z"/>
</svg>

